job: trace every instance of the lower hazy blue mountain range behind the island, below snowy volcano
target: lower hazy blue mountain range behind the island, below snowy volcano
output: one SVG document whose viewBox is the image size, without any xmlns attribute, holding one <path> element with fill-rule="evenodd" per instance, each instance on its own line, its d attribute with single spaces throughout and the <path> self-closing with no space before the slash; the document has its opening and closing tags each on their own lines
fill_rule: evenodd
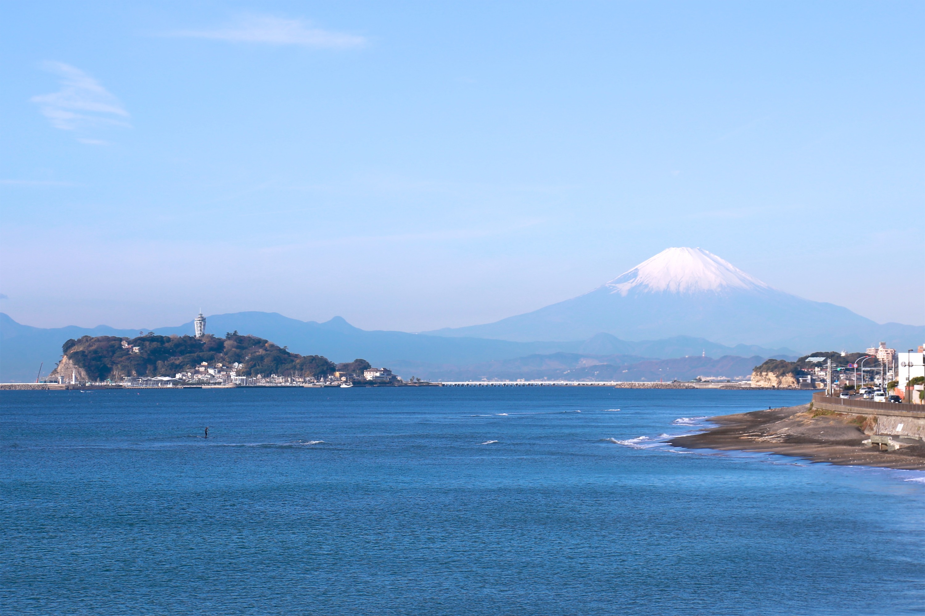
<svg viewBox="0 0 925 616">
<path fill-rule="evenodd" d="M 43 329 L 22 325 L 0 313 L 0 380 L 35 380 L 40 364 L 47 375 L 61 358 L 61 345 L 69 338 L 120 336 L 133 338 L 139 332 L 192 334 L 192 320 L 179 326 L 149 330 L 116 329 L 105 325 L 94 328 L 68 326 Z M 396 369 L 403 377 L 437 378 L 447 370 L 483 366 L 490 362 L 525 356 L 571 353 L 580 356 L 635 356 L 669 358 L 682 356 L 761 356 L 793 358 L 788 348 L 763 348 L 740 344 L 726 346 L 702 338 L 674 336 L 664 340 L 628 342 L 600 333 L 586 340 L 560 342 L 512 342 L 472 337 L 445 337 L 408 332 L 368 332 L 353 327 L 339 317 L 323 323 L 284 317 L 275 312 L 237 312 L 213 315 L 206 320 L 206 332 L 249 333 L 288 346 L 302 355 L 323 355 L 335 362 L 362 357 L 376 365 Z M 760 363 L 760 362 L 759 362 Z M 449 367 L 449 368 L 448 368 Z M 483 369 L 477 368 L 476 371 Z M 567 368 L 566 368 L 567 369 Z M 411 371 L 409 371 L 411 370 Z M 518 376 L 517 378 L 524 378 Z"/>
</svg>

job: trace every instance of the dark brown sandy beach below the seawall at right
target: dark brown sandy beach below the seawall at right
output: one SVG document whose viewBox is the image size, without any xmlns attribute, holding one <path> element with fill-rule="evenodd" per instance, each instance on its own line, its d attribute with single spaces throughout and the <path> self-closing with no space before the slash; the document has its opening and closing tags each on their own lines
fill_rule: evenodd
<svg viewBox="0 0 925 616">
<path fill-rule="evenodd" d="M 925 470 L 925 443 L 878 452 L 861 441 L 864 417 L 810 411 L 809 405 L 709 417 L 716 428 L 669 443 L 686 449 L 781 453 L 833 465 L 884 466 Z"/>
</svg>

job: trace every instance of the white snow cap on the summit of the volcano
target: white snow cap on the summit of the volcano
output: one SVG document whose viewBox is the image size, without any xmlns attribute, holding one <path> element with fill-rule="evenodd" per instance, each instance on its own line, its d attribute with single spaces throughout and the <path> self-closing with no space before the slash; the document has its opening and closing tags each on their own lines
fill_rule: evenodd
<svg viewBox="0 0 925 616">
<path fill-rule="evenodd" d="M 770 289 L 767 284 L 702 248 L 666 248 L 604 284 L 611 293 L 697 293 Z"/>
</svg>

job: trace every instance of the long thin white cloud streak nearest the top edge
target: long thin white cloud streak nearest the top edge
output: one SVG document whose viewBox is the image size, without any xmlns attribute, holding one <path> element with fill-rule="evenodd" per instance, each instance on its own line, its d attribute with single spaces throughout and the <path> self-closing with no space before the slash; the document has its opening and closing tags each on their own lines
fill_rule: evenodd
<svg viewBox="0 0 925 616">
<path fill-rule="evenodd" d="M 363 47 L 366 39 L 355 34 L 315 28 L 304 19 L 284 19 L 266 15 L 244 15 L 226 27 L 214 30 L 177 30 L 167 36 L 212 39 L 230 42 L 265 42 L 274 45 L 302 45 L 346 49 Z"/>
</svg>

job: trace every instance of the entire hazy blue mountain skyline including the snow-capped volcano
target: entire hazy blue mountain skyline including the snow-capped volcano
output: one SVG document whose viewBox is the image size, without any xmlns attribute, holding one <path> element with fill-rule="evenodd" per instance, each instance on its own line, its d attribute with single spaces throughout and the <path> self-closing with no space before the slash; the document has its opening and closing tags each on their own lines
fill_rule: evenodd
<svg viewBox="0 0 925 616">
<path fill-rule="evenodd" d="M 0 380 L 35 380 L 40 364 L 48 374 L 68 338 L 130 338 L 142 330 L 105 325 L 42 329 L 0 313 Z M 193 324 L 151 331 L 192 334 Z M 275 312 L 236 312 L 208 317 L 206 331 L 253 334 L 295 353 L 335 362 L 362 357 L 402 376 L 414 372 L 422 378 L 526 378 L 568 370 L 577 377 L 611 370 L 608 380 L 634 374 L 648 379 L 670 368 L 680 374 L 682 368 L 644 366 L 644 358 L 682 357 L 684 369 L 715 368 L 741 373 L 722 376 L 742 376 L 748 362 L 768 357 L 793 358 L 820 349 L 854 351 L 879 342 L 905 349 L 925 342 L 923 326 L 879 324 L 847 308 L 783 293 L 700 248 L 668 248 L 584 296 L 486 325 L 424 333 L 368 332 L 339 317 L 319 323 Z M 697 356 L 704 361 L 698 364 Z M 708 366 L 709 357 L 725 356 L 744 358 L 745 363 L 710 359 L 714 364 Z M 592 368 L 601 364 L 611 368 Z M 626 368 L 630 364 L 639 367 Z"/>
</svg>

